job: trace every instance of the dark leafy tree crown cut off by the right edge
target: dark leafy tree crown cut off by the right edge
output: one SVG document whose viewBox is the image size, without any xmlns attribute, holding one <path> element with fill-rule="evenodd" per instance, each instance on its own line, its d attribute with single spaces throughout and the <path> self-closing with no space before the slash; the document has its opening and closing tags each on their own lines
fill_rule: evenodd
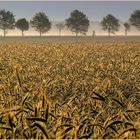
<svg viewBox="0 0 140 140">
<path fill-rule="evenodd" d="M 130 24 L 140 30 L 140 10 L 135 10 L 130 16 Z"/>
</svg>

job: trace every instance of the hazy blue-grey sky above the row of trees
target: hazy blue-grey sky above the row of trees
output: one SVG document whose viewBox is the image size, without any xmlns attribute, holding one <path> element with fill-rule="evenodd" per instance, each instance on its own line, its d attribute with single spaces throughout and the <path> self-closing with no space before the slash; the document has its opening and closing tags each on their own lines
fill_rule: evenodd
<svg viewBox="0 0 140 140">
<path fill-rule="evenodd" d="M 45 12 L 50 21 L 64 21 L 72 10 L 78 9 L 90 21 L 101 21 L 109 13 L 121 21 L 127 21 L 135 9 L 140 9 L 140 1 L 0 1 L 0 9 L 12 11 L 16 19 L 30 20 L 35 13 Z M 32 29 L 28 34 L 31 32 L 38 35 Z M 9 33 L 13 34 L 13 31 Z M 14 33 L 20 35 L 19 30 L 14 30 Z"/>
</svg>

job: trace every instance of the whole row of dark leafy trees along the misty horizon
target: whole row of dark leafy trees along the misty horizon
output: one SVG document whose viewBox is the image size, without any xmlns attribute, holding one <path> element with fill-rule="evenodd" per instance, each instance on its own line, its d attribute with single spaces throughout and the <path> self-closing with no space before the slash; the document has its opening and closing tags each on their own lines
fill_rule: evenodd
<svg viewBox="0 0 140 140">
<path fill-rule="evenodd" d="M 39 32 L 40 36 L 51 29 L 51 22 L 49 21 L 47 15 L 43 12 L 36 13 L 32 17 L 31 21 L 28 22 L 25 18 L 15 21 L 15 16 L 12 12 L 6 11 L 5 9 L 0 10 L 0 29 L 3 30 L 4 37 L 6 36 L 8 30 L 14 29 L 15 27 L 21 30 L 22 36 L 24 36 L 24 31 L 29 29 L 29 24 Z M 124 23 L 125 35 L 127 35 L 131 25 L 140 30 L 140 10 L 135 10 L 129 18 L 129 23 Z M 85 35 L 89 28 L 89 19 L 81 11 L 74 10 L 70 13 L 70 17 L 65 20 L 65 24 L 56 24 L 60 36 L 61 30 L 65 26 L 74 32 L 76 36 L 78 36 L 78 34 Z M 111 33 L 114 34 L 116 31 L 119 31 L 120 23 L 116 17 L 108 14 L 106 17 L 103 17 L 101 26 L 104 31 L 108 32 L 108 36 L 110 36 Z"/>
</svg>

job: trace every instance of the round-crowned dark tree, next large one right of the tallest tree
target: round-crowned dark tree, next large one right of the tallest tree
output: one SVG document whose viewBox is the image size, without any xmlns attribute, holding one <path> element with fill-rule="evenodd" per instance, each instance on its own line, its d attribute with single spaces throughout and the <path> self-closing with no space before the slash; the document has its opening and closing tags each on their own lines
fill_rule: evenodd
<svg viewBox="0 0 140 140">
<path fill-rule="evenodd" d="M 103 17 L 101 26 L 103 27 L 103 30 L 108 31 L 108 36 L 110 36 L 110 33 L 114 34 L 119 30 L 120 24 L 117 18 L 115 18 L 113 15 L 108 14 L 106 17 Z"/>
</svg>

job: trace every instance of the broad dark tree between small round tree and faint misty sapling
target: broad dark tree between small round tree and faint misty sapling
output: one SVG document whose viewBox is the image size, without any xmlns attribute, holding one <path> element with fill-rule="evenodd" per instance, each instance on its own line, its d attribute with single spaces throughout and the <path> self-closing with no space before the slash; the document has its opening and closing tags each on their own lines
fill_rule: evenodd
<svg viewBox="0 0 140 140">
<path fill-rule="evenodd" d="M 51 28 L 51 22 L 43 12 L 36 13 L 30 23 L 31 26 L 40 33 L 40 37 L 42 33 L 48 32 Z"/>
</svg>

